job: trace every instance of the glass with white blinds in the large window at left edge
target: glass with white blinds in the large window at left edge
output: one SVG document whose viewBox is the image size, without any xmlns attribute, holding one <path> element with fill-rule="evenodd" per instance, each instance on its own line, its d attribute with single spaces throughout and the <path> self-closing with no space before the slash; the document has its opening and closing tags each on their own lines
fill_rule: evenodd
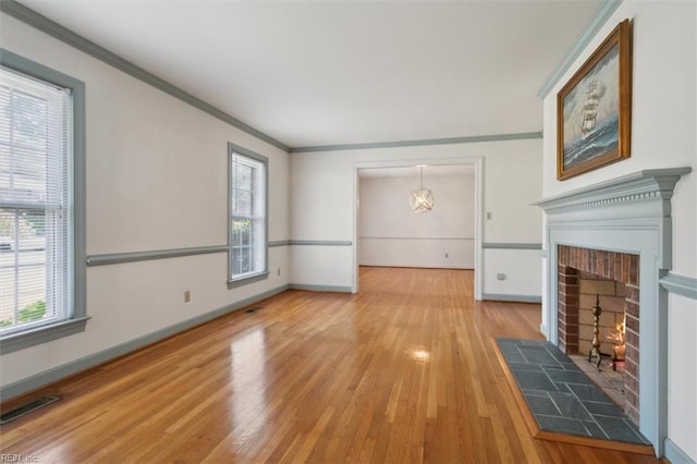
<svg viewBox="0 0 697 464">
<path fill-rule="evenodd" d="M 0 334 L 73 316 L 71 89 L 0 70 Z"/>
</svg>

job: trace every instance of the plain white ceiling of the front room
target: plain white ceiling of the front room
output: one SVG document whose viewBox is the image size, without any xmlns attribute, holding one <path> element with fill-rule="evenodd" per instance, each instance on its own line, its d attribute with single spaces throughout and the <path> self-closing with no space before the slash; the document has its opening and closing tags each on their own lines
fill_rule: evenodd
<svg viewBox="0 0 697 464">
<path fill-rule="evenodd" d="M 601 2 L 21 0 L 292 148 L 539 132 Z"/>
</svg>

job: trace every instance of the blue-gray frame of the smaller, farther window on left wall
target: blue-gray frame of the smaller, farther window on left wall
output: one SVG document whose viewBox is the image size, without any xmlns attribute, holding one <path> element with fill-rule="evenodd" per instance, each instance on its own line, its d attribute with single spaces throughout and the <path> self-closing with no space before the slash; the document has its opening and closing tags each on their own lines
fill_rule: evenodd
<svg viewBox="0 0 697 464">
<path fill-rule="evenodd" d="M 261 205 L 264 207 L 262 220 L 264 220 L 264 243 L 260 245 L 260 249 L 264 252 L 262 269 L 260 271 L 245 274 L 241 278 L 233 278 L 232 271 L 232 258 L 233 258 L 233 246 L 232 246 L 232 193 L 234 190 L 233 184 L 233 175 L 232 175 L 232 157 L 234 154 L 240 156 L 249 158 L 260 164 L 264 166 L 264 173 L 261 174 L 261 179 L 264 182 L 264 186 L 261 191 L 264 192 L 264 200 Z M 258 215 L 257 215 L 258 216 Z M 262 155 L 248 150 L 244 147 L 235 145 L 231 142 L 228 143 L 228 289 L 234 289 L 239 286 L 243 286 L 253 282 L 258 282 L 260 280 L 266 280 L 269 277 L 269 159 Z"/>
</svg>

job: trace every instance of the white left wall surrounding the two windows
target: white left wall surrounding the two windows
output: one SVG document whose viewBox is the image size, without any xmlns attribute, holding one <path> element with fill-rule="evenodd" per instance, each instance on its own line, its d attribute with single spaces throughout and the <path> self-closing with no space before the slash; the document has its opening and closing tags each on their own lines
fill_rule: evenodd
<svg viewBox="0 0 697 464">
<path fill-rule="evenodd" d="M 225 245 L 227 144 L 269 158 L 269 240 L 289 239 L 288 154 L 2 14 L 2 47 L 86 84 L 87 255 Z M 87 268 L 87 329 L 0 357 L 2 386 L 289 283 L 228 290 L 227 254 Z M 191 303 L 184 303 L 191 290 Z"/>
</svg>

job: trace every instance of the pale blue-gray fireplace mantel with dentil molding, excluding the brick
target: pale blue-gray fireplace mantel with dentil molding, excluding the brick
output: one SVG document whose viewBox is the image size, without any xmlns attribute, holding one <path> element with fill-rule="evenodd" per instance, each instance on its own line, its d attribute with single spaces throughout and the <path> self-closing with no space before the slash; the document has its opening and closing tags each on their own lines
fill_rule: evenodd
<svg viewBox="0 0 697 464">
<path fill-rule="evenodd" d="M 692 168 L 643 170 L 545 198 L 541 332 L 558 344 L 559 246 L 637 255 L 639 260 L 639 429 L 663 454 L 668 437 L 668 297 L 672 268 L 671 198 Z"/>
</svg>

